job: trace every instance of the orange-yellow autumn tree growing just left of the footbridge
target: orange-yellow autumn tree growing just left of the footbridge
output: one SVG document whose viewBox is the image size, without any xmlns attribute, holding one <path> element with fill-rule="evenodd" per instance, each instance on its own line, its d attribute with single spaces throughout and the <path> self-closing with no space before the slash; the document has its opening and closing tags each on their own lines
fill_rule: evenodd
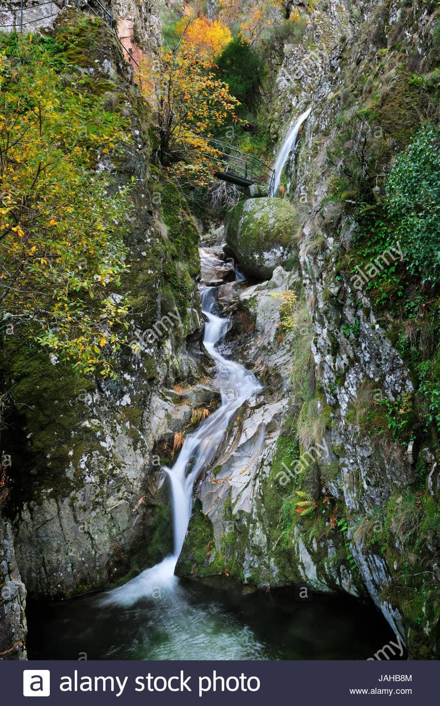
<svg viewBox="0 0 440 706">
<path fill-rule="evenodd" d="M 209 138 L 237 119 L 238 100 L 209 61 L 182 46 L 174 51 L 162 48 L 154 59 L 144 59 L 139 77 L 155 112 L 160 163 L 172 164 L 181 180 L 206 184 L 212 171 L 209 157 L 216 154 Z"/>
</svg>

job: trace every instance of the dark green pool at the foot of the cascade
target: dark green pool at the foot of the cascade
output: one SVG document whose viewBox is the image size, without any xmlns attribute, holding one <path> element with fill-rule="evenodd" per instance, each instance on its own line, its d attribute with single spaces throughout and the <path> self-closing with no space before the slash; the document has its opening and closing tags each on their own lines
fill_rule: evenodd
<svg viewBox="0 0 440 706">
<path fill-rule="evenodd" d="M 29 658 L 367 659 L 394 637 L 376 609 L 352 599 L 301 602 L 293 590 L 218 584 L 176 579 L 132 606 L 93 596 L 31 604 Z"/>
</svg>

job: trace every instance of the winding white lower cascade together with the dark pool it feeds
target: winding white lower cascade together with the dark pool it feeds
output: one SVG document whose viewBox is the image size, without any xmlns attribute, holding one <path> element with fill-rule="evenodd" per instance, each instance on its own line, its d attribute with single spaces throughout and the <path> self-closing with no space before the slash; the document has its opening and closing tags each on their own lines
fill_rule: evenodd
<svg viewBox="0 0 440 706">
<path fill-rule="evenodd" d="M 213 253 L 201 256 L 202 268 L 224 271 Z M 243 281 L 239 273 L 237 280 Z M 316 596 L 304 609 L 292 588 L 264 592 L 224 577 L 198 582 L 174 575 L 194 482 L 213 460 L 234 412 L 263 391 L 253 373 L 218 351 L 229 322 L 215 313 L 217 293 L 218 287 L 201 287 L 203 340 L 215 361 L 221 404 L 186 437 L 174 466 L 166 469 L 174 553 L 112 591 L 31 606 L 30 658 L 366 659 L 378 634 L 384 642 L 389 638 L 381 616 L 352 599 Z"/>
</svg>

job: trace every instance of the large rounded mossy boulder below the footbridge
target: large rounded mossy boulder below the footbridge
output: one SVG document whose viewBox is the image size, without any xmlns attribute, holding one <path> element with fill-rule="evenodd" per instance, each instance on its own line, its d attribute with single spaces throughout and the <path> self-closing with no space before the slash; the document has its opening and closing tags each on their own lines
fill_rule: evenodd
<svg viewBox="0 0 440 706">
<path fill-rule="evenodd" d="M 300 222 L 297 210 L 281 198 L 249 198 L 227 213 L 226 243 L 246 275 L 266 280 L 278 265 L 292 261 Z"/>
</svg>

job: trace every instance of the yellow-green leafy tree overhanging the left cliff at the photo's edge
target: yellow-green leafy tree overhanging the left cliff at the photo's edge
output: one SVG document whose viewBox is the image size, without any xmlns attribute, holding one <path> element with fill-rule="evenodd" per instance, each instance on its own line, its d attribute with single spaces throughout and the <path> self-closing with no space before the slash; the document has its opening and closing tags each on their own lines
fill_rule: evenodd
<svg viewBox="0 0 440 706">
<path fill-rule="evenodd" d="M 69 85 L 32 37 L 0 54 L 0 307 L 17 328 L 78 371 L 112 374 L 121 345 L 119 285 L 125 191 L 97 168 L 126 134 L 121 118 Z"/>
</svg>

